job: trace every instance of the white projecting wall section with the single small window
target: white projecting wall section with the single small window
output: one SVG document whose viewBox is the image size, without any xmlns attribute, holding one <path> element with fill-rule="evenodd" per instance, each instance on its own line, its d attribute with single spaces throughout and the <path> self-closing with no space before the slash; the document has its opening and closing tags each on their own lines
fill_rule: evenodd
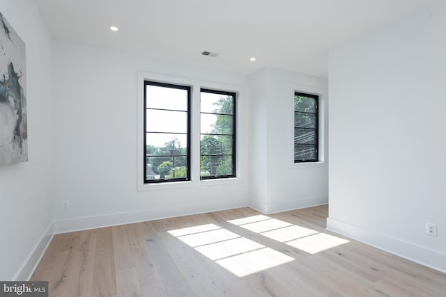
<svg viewBox="0 0 446 297">
<path fill-rule="evenodd" d="M 249 204 L 265 213 L 328 202 L 328 81 L 267 68 L 249 77 Z M 320 97 L 320 159 L 294 163 L 294 92 Z"/>
</svg>

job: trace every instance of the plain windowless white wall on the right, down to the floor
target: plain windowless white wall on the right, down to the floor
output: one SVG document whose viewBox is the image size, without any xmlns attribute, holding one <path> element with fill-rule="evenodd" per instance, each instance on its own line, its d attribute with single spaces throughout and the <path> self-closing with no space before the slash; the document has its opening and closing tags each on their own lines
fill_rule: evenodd
<svg viewBox="0 0 446 297">
<path fill-rule="evenodd" d="M 438 1 L 332 49 L 329 72 L 328 227 L 443 271 L 445 32 Z"/>
</svg>

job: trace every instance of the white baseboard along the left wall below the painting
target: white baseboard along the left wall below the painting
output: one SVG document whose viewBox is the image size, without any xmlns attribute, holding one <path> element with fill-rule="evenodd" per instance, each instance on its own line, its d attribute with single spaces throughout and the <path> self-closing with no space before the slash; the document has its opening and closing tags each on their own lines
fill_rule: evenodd
<svg viewBox="0 0 446 297">
<path fill-rule="evenodd" d="M 37 265 L 42 259 L 45 250 L 47 250 L 49 243 L 51 242 L 54 236 L 54 223 L 49 224 L 47 230 L 43 233 L 40 241 L 36 243 L 33 250 L 31 250 L 28 258 L 19 269 L 17 274 L 14 277 L 14 280 L 29 280 L 36 269 Z"/>
</svg>

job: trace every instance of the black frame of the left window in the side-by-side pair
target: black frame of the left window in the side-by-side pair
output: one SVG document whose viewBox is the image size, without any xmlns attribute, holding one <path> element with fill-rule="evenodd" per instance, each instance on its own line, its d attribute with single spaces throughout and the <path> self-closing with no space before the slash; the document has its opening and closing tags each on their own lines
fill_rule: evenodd
<svg viewBox="0 0 446 297">
<path fill-rule="evenodd" d="M 175 88 L 175 89 L 179 89 L 179 90 L 186 90 L 187 91 L 187 128 L 186 128 L 186 143 L 187 143 L 187 149 L 186 149 L 186 174 L 187 177 L 176 177 L 176 178 L 171 178 L 171 179 L 147 179 L 147 133 L 150 133 L 147 131 L 147 86 L 160 86 L 163 88 Z M 143 124 L 143 134 L 144 134 L 144 140 L 143 140 L 143 145 L 144 145 L 144 165 L 143 165 L 143 172 L 144 172 L 144 184 L 160 184 L 160 183 L 167 183 L 167 182 L 187 182 L 190 181 L 192 179 L 191 177 L 191 170 L 190 170 L 190 159 L 191 159 L 191 102 L 192 102 L 192 87 L 191 86 L 185 86 L 185 85 L 180 85 L 180 84 L 176 84 L 176 83 L 162 83 L 159 81 L 151 81 L 151 80 L 147 80 L 144 79 L 144 124 Z M 174 111 L 174 110 L 171 110 Z M 152 132 L 153 133 L 153 132 Z M 155 132 L 158 133 L 158 132 Z M 166 133 L 169 134 L 168 132 L 159 132 L 159 133 Z M 175 133 L 174 133 L 175 134 Z M 174 155 L 172 155 L 174 156 Z M 182 155 L 183 156 L 183 155 Z"/>
</svg>

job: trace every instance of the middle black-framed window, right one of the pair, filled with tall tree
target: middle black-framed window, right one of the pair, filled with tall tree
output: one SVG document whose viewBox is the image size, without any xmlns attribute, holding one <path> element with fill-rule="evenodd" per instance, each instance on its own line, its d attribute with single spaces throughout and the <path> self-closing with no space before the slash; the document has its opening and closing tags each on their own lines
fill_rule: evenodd
<svg viewBox="0 0 446 297">
<path fill-rule="evenodd" d="M 200 178 L 236 176 L 236 93 L 201 89 Z"/>
</svg>

